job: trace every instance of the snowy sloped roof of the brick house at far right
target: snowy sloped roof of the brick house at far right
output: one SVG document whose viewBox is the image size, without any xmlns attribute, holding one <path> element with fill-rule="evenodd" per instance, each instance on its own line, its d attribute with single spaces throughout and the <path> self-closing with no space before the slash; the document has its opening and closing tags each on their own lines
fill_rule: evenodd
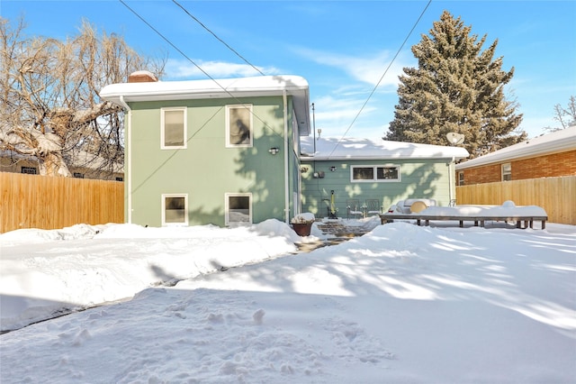
<svg viewBox="0 0 576 384">
<path fill-rule="evenodd" d="M 526 142 L 518 142 L 473 160 L 464 161 L 457 164 L 456 169 L 469 169 L 503 161 L 534 158 L 574 150 L 576 150 L 576 125 L 529 139 Z"/>
</svg>

